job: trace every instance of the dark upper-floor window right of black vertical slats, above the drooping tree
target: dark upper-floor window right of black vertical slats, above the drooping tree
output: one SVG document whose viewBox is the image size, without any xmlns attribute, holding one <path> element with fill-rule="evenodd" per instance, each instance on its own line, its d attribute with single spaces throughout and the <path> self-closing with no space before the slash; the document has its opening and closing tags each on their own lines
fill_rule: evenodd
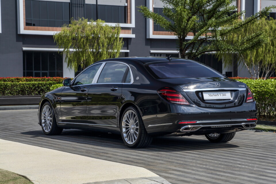
<svg viewBox="0 0 276 184">
<path fill-rule="evenodd" d="M 126 12 L 126 6 L 98 5 L 98 18 L 108 23 L 127 23 Z M 85 18 L 97 20 L 95 4 L 85 4 Z"/>
</svg>

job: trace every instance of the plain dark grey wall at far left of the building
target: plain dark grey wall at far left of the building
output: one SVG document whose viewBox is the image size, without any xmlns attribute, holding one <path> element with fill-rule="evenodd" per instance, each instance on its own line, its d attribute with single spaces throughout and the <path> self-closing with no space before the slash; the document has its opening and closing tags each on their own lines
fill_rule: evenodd
<svg viewBox="0 0 276 184">
<path fill-rule="evenodd" d="M 17 34 L 16 0 L 1 1 L 0 77 L 22 76 L 22 37 Z"/>
</svg>

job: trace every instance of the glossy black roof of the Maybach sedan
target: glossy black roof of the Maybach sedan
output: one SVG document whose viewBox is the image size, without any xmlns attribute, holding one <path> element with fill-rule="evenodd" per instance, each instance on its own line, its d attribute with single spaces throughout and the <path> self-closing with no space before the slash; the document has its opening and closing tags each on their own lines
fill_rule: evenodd
<svg viewBox="0 0 276 184">
<path fill-rule="evenodd" d="M 151 63 L 151 62 L 158 62 L 158 61 L 168 61 L 166 57 L 119 57 L 119 58 L 112 58 L 112 59 L 106 59 L 106 60 L 101 60 L 98 62 L 106 62 L 106 61 L 122 61 L 128 63 L 131 61 L 136 61 L 139 63 Z M 188 60 L 188 59 L 183 59 L 183 58 L 178 58 L 178 57 L 172 57 L 171 61 L 193 61 L 193 60 Z M 95 63 L 98 63 L 95 62 Z M 95 64 L 93 63 L 93 64 Z"/>
</svg>

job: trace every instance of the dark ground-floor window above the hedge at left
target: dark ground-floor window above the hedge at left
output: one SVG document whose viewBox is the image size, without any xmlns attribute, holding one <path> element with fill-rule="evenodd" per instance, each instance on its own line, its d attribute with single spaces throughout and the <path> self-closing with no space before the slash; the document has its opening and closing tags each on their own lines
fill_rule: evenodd
<svg viewBox="0 0 276 184">
<path fill-rule="evenodd" d="M 62 55 L 57 52 L 23 52 L 24 77 L 63 77 Z"/>
</svg>

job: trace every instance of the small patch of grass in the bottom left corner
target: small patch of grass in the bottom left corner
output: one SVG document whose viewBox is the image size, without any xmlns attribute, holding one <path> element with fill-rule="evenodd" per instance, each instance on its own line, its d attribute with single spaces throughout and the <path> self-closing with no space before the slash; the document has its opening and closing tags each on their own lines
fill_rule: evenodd
<svg viewBox="0 0 276 184">
<path fill-rule="evenodd" d="M 33 184 L 29 179 L 16 173 L 0 169 L 0 184 Z"/>
</svg>

